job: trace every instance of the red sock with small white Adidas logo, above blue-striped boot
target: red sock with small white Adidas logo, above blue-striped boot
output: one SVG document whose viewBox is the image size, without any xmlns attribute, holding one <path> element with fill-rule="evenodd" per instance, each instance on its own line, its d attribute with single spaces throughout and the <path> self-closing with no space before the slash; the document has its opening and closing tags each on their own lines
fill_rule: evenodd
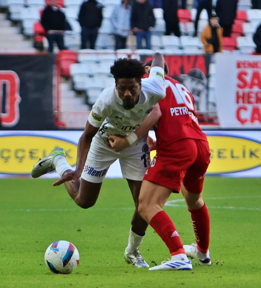
<svg viewBox="0 0 261 288">
<path fill-rule="evenodd" d="M 175 225 L 165 211 L 155 214 L 151 219 L 150 225 L 165 242 L 172 256 L 180 253 L 185 254 Z"/>
</svg>

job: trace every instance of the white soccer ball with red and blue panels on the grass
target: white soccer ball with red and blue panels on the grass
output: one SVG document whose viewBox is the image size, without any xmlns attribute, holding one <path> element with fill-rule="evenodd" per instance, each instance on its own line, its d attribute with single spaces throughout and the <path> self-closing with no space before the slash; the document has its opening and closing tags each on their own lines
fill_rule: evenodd
<svg viewBox="0 0 261 288">
<path fill-rule="evenodd" d="M 45 251 L 44 262 L 53 273 L 69 274 L 80 261 L 80 255 L 73 243 L 60 240 L 53 242 Z"/>
</svg>

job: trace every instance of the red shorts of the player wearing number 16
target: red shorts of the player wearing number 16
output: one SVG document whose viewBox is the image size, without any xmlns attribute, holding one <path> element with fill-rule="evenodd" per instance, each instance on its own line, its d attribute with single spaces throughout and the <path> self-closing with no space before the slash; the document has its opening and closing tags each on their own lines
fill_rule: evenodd
<svg viewBox="0 0 261 288">
<path fill-rule="evenodd" d="M 175 193 L 179 193 L 183 182 L 189 192 L 201 193 L 210 163 L 209 143 L 186 138 L 175 142 L 172 151 L 169 156 L 157 153 L 143 179 L 173 189 Z"/>
</svg>

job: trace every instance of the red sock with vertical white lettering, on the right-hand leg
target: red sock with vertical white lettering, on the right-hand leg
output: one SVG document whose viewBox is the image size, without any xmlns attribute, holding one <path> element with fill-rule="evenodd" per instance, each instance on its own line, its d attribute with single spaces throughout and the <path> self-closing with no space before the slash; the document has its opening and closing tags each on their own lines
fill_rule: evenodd
<svg viewBox="0 0 261 288">
<path fill-rule="evenodd" d="M 209 211 L 206 204 L 196 210 L 189 210 L 194 233 L 197 241 L 197 249 L 202 253 L 207 253 L 209 249 Z"/>
</svg>

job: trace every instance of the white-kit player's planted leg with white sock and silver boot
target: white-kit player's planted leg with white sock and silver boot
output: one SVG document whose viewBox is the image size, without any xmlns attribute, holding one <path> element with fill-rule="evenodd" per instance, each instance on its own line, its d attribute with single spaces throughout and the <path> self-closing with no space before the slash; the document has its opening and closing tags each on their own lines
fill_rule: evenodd
<svg viewBox="0 0 261 288">
<path fill-rule="evenodd" d="M 142 244 L 146 234 L 148 223 L 139 215 L 139 191 L 142 181 L 126 179 L 131 190 L 131 194 L 135 203 L 135 211 L 131 219 L 131 229 L 128 239 L 128 246 L 124 252 L 124 259 L 127 263 L 133 264 L 137 268 L 149 267 L 139 252 L 139 246 Z"/>
</svg>

